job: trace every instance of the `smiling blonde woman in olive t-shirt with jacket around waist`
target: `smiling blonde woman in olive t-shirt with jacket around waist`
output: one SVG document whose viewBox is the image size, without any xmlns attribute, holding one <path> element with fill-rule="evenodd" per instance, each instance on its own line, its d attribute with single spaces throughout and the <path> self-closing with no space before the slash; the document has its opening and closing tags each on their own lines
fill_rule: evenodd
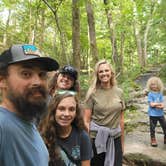
<svg viewBox="0 0 166 166">
<path fill-rule="evenodd" d="M 95 65 L 85 98 L 84 121 L 94 157 L 91 166 L 122 165 L 123 92 L 117 87 L 115 72 L 106 60 Z"/>
</svg>

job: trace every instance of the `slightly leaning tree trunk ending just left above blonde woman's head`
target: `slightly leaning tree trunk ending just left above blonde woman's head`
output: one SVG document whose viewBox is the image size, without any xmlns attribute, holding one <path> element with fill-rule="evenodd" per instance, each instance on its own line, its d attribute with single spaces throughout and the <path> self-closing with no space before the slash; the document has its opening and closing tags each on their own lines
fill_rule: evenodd
<svg viewBox="0 0 166 166">
<path fill-rule="evenodd" d="M 98 50 L 96 44 L 95 20 L 91 0 L 86 1 L 86 12 L 89 25 L 90 50 L 94 63 L 98 61 Z"/>
</svg>

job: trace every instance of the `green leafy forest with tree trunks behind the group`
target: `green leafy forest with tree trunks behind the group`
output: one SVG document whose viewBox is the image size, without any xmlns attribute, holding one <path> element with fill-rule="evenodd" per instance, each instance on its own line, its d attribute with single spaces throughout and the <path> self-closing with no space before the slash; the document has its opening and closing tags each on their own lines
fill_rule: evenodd
<svg viewBox="0 0 166 166">
<path fill-rule="evenodd" d="M 0 52 L 35 44 L 78 69 L 82 96 L 94 64 L 107 59 L 128 100 L 140 73 L 166 63 L 165 9 L 165 0 L 0 0 Z"/>
</svg>

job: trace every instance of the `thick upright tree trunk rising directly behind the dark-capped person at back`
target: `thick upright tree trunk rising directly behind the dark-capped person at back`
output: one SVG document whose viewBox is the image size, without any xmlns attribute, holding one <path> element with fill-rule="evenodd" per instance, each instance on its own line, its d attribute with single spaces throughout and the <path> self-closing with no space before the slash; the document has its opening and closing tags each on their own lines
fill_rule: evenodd
<svg viewBox="0 0 166 166">
<path fill-rule="evenodd" d="M 80 71 L 80 10 L 78 0 L 72 0 L 73 65 Z"/>
</svg>

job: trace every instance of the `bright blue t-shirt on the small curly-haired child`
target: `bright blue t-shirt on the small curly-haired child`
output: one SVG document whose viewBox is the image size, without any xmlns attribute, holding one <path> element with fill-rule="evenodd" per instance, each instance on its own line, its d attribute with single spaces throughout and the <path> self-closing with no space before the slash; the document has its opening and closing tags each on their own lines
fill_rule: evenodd
<svg viewBox="0 0 166 166">
<path fill-rule="evenodd" d="M 149 92 L 148 93 L 148 103 L 149 103 L 148 114 L 149 114 L 149 116 L 159 117 L 159 116 L 164 115 L 163 109 L 159 109 L 159 108 L 150 106 L 150 103 L 161 103 L 161 102 L 163 102 L 163 95 L 161 93 L 159 93 L 159 92 Z"/>
</svg>

